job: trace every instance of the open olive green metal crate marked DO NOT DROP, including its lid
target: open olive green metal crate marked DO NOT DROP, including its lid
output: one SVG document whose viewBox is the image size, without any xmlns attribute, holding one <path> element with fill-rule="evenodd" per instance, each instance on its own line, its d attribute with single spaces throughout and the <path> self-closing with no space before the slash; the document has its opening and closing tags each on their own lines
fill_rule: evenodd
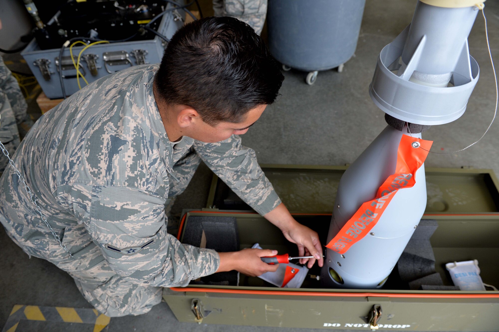
<svg viewBox="0 0 499 332">
<path fill-rule="evenodd" d="M 345 169 L 263 168 L 283 201 L 291 206 L 302 202 L 293 201 L 292 188 L 288 188 L 288 195 L 283 195 L 282 189 L 279 192 L 279 188 L 286 188 L 286 182 L 295 183 L 298 177 L 301 183 L 310 186 L 323 183 L 322 187 L 318 186 L 319 191 L 334 189 L 334 180 L 337 185 Z M 475 169 L 429 169 L 427 182 L 435 187 L 433 193 L 428 190 L 429 204 L 423 218 L 435 219 L 439 225 L 431 243 L 436 271 L 444 285 L 452 285 L 445 263 L 471 259 L 479 260 L 485 283 L 499 285 L 499 195 L 494 173 Z M 217 186 L 220 187 L 218 181 L 212 186 L 211 198 L 216 198 L 216 191 L 220 190 Z M 335 189 L 333 191 L 335 193 Z M 325 212 L 329 205 L 332 209 L 334 194 L 325 191 L 321 194 L 328 194 L 331 202 L 317 201 L 318 196 L 310 197 L 302 205 L 303 213 L 294 216 L 325 237 L 330 211 L 316 212 Z M 297 199 L 303 197 L 307 199 L 306 196 Z M 261 247 L 276 249 L 279 253 L 292 255 L 297 251 L 275 226 L 251 211 L 190 211 L 180 225 L 181 240 L 191 216 L 236 217 L 241 249 L 259 242 Z M 321 242 L 324 241 L 325 238 L 321 238 Z M 309 274 L 320 275 L 319 268 L 314 266 Z M 163 297 L 181 322 L 200 321 L 197 313 L 199 318 L 203 316 L 203 324 L 370 331 L 369 314 L 375 306 L 381 306 L 379 331 L 499 331 L 499 292 L 401 290 L 396 283 L 390 283 L 390 278 L 381 290 L 321 289 L 320 282 L 312 278 L 305 279 L 302 288 L 281 289 L 259 278 L 241 275 L 239 286 L 165 288 Z"/>
</svg>

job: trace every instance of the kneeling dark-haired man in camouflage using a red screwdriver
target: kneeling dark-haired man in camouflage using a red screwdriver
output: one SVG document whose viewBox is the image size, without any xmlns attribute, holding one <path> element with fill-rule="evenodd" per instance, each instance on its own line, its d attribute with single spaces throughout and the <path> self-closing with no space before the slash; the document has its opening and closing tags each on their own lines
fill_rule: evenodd
<svg viewBox="0 0 499 332">
<path fill-rule="evenodd" d="M 12 157 L 18 170 L 0 178 L 10 238 L 69 273 L 108 316 L 147 313 L 161 287 L 217 271 L 277 269 L 260 259 L 275 250 L 217 253 L 167 233 L 165 204 L 201 160 L 322 266 L 317 233 L 294 220 L 234 135 L 248 131 L 282 83 L 263 40 L 236 18 L 206 17 L 180 28 L 163 58 L 103 77 L 45 113 Z"/>
</svg>

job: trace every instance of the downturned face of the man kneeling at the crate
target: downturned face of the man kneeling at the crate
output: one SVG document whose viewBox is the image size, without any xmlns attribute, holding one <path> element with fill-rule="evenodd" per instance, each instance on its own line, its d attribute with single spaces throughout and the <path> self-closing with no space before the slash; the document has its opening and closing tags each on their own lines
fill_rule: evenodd
<svg viewBox="0 0 499 332">
<path fill-rule="evenodd" d="M 191 131 L 188 136 L 201 142 L 216 143 L 227 140 L 233 134 L 246 134 L 248 129 L 260 118 L 266 107 L 267 105 L 259 105 L 251 109 L 246 114 L 245 120 L 240 123 L 220 122 L 216 126 L 210 126 L 206 122 L 201 121 L 197 124 L 197 128 Z"/>
</svg>

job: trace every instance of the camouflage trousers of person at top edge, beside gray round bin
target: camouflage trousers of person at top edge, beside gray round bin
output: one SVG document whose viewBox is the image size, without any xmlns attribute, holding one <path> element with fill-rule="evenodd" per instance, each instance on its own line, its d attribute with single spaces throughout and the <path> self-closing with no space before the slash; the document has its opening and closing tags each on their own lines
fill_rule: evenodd
<svg viewBox="0 0 499 332">
<path fill-rule="evenodd" d="M 261 33 L 267 14 L 267 0 L 213 0 L 215 16 L 236 17 Z"/>
</svg>

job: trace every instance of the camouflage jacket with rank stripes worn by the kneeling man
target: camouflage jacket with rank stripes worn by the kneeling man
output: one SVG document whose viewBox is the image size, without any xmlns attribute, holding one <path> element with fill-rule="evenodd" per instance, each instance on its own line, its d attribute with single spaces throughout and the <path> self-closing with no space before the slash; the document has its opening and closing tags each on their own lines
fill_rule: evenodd
<svg viewBox="0 0 499 332">
<path fill-rule="evenodd" d="M 69 97 L 36 122 L 14 161 L 60 236 L 65 227 L 84 223 L 121 277 L 141 285 L 183 286 L 214 273 L 220 258 L 166 232 L 173 157 L 152 90 L 156 70 L 157 65 L 134 66 Z M 260 214 L 280 203 L 254 151 L 238 136 L 189 144 Z M 16 177 L 8 168 L 1 178 L 0 221 L 35 254 L 54 244 L 39 234 L 46 226 Z"/>
</svg>

